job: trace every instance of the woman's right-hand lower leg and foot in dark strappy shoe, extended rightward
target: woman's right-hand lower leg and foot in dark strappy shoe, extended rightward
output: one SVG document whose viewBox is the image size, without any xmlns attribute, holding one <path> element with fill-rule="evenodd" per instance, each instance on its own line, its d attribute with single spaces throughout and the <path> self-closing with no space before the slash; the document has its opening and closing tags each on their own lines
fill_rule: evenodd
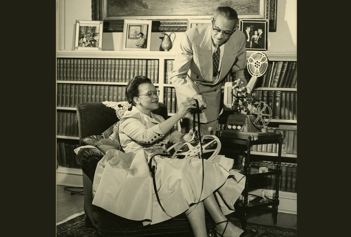
<svg viewBox="0 0 351 237">
<path fill-rule="evenodd" d="M 219 223 L 219 222 L 227 220 L 227 218 L 223 215 L 222 211 L 219 209 L 218 204 L 217 204 L 216 199 L 214 198 L 213 194 L 208 196 L 203 201 L 203 203 L 204 203 L 206 210 L 210 213 L 210 215 L 213 218 L 213 221 L 215 223 Z M 217 232 L 222 234 L 225 226 L 226 226 L 225 222 L 217 225 Z M 228 222 L 227 228 L 224 232 L 224 236 L 236 237 L 236 236 L 239 236 L 242 232 L 244 232 L 242 229 L 233 225 L 231 222 Z"/>
</svg>

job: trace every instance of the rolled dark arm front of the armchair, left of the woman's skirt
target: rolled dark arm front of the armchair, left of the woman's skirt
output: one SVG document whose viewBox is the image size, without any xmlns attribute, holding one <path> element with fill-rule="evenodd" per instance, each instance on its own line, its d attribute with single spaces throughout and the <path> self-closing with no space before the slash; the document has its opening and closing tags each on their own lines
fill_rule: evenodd
<svg viewBox="0 0 351 237">
<path fill-rule="evenodd" d="M 78 151 L 77 162 L 82 167 L 82 171 L 89 177 L 89 179 L 93 182 L 94 174 L 98 162 L 104 157 L 104 153 L 102 153 L 99 149 L 95 148 L 84 148 Z"/>
</svg>

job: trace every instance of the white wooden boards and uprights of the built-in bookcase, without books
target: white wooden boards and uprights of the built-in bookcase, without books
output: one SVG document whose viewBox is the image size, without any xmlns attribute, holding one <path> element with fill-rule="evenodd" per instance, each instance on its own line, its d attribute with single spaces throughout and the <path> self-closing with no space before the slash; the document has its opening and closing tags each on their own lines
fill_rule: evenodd
<svg viewBox="0 0 351 237">
<path fill-rule="evenodd" d="M 138 60 L 157 60 L 158 61 L 158 70 L 154 73 L 157 73 L 158 81 L 154 83 L 155 87 L 160 90 L 159 100 L 165 102 L 166 94 L 165 88 L 174 88 L 172 84 L 167 83 L 167 68 L 165 67 L 169 60 L 174 60 L 177 52 L 161 52 L 161 51 L 82 51 L 82 50 L 59 50 L 57 52 L 58 59 L 138 59 Z M 252 52 L 247 52 L 246 59 L 249 59 Z M 265 52 L 269 61 L 297 61 L 296 53 L 270 53 Z M 57 76 L 57 78 L 59 75 Z M 57 86 L 59 84 L 68 84 L 68 85 L 99 85 L 99 86 L 125 86 L 126 82 L 111 82 L 111 81 L 73 81 L 73 80 L 57 80 Z M 224 88 L 224 87 L 222 87 Z M 256 90 L 281 90 L 289 92 L 297 92 L 297 88 L 270 88 L 270 87 L 256 87 Z M 105 101 L 105 100 L 103 100 Z M 66 106 L 57 106 L 57 112 L 61 113 L 75 113 L 77 110 L 76 107 L 66 107 Z M 172 111 L 168 113 L 170 116 L 174 115 Z M 272 118 L 271 123 L 281 124 L 297 124 L 297 120 L 286 120 L 286 119 L 274 119 Z M 67 135 L 57 135 L 57 141 L 60 142 L 70 142 L 73 144 L 79 144 L 78 136 L 67 136 Z M 264 156 L 277 156 L 277 153 L 267 153 L 267 152 L 257 152 L 251 151 L 252 155 L 264 155 Z M 282 157 L 295 158 L 297 160 L 297 154 L 282 154 Z M 79 176 L 77 174 L 77 168 L 69 168 L 59 166 L 60 173 Z M 72 177 L 73 177 L 72 176 Z M 59 180 L 59 179 L 58 179 Z M 290 196 L 294 196 L 294 201 L 297 201 L 297 194 L 288 193 Z"/>
</svg>

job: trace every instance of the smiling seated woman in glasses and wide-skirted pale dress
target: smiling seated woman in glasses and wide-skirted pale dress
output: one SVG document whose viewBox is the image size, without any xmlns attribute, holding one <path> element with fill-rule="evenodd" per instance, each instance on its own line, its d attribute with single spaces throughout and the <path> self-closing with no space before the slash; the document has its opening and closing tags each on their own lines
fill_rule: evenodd
<svg viewBox="0 0 351 237">
<path fill-rule="evenodd" d="M 175 115 L 164 120 L 151 112 L 158 109 L 158 95 L 159 91 L 145 76 L 135 76 L 128 82 L 126 97 L 133 107 L 124 113 L 119 124 L 125 154 L 111 149 L 99 161 L 93 183 L 93 204 L 115 215 L 143 221 L 144 225 L 185 212 L 196 237 L 207 236 L 205 207 L 216 223 L 219 236 L 255 236 L 255 231 L 244 232 L 225 217 L 234 211 L 233 205 L 244 189 L 244 175 L 214 161 L 203 160 L 203 165 L 198 158 L 154 156 L 165 154 L 168 142 L 191 139 L 192 130 L 181 134 L 173 126 L 190 110 L 196 109 L 196 101 L 188 99 L 181 103 Z M 152 156 L 162 207 L 148 167 Z"/>
</svg>

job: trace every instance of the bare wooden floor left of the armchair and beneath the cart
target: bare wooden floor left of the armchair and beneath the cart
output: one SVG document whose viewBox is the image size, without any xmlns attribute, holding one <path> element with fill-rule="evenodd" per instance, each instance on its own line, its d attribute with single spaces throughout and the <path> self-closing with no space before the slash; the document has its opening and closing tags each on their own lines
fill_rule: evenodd
<svg viewBox="0 0 351 237">
<path fill-rule="evenodd" d="M 81 191 L 82 189 L 72 189 Z M 65 191 L 64 186 L 57 185 L 57 220 L 59 223 L 69 216 L 84 211 L 84 196 L 71 195 L 71 192 Z M 229 219 L 239 220 L 236 212 L 227 216 Z M 249 212 L 247 222 L 274 225 L 272 211 L 267 209 L 259 209 Z M 297 215 L 278 212 L 277 225 L 284 228 L 292 228 L 297 230 Z"/>
</svg>

